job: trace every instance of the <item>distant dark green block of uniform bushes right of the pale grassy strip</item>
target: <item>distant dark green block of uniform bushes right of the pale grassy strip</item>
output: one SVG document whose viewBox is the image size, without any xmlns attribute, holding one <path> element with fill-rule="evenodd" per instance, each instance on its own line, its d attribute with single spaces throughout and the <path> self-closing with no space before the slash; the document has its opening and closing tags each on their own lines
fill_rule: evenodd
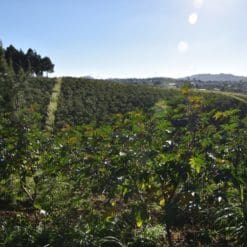
<svg viewBox="0 0 247 247">
<path fill-rule="evenodd" d="M 172 98 L 173 90 L 150 86 L 124 85 L 94 79 L 63 78 L 56 125 L 78 125 L 111 121 L 114 114 L 142 109 Z"/>
</svg>

